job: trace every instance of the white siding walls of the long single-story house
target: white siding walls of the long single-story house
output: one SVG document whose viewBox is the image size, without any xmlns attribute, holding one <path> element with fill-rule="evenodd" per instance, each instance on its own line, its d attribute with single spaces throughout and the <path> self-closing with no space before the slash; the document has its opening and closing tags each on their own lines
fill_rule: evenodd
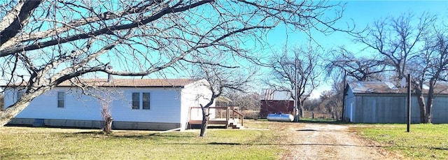
<svg viewBox="0 0 448 160">
<path fill-rule="evenodd" d="M 111 114 L 117 122 L 161 122 L 161 123 L 183 123 L 185 126 L 188 117 L 188 107 L 198 106 L 195 102 L 198 92 L 196 86 L 188 87 L 188 92 L 182 92 L 181 88 L 173 87 L 117 87 L 111 89 Z M 17 91 L 5 90 L 5 106 L 14 103 Z M 64 110 L 57 108 L 57 92 L 64 92 Z M 79 119 L 79 120 L 102 120 L 101 105 L 99 100 L 81 94 L 81 91 L 70 87 L 55 87 L 50 91 L 36 97 L 29 106 L 22 110 L 18 118 L 38 119 Z M 132 93 L 139 93 L 139 110 L 132 110 Z M 143 109 L 143 93 L 149 93 L 150 110 Z M 194 93 L 194 94 L 193 94 Z M 193 95 L 190 95 L 193 94 Z M 209 93 L 205 93 L 208 95 Z M 183 96 L 191 97 L 181 110 L 181 99 Z M 53 102 L 53 103 L 48 103 Z M 183 113 L 181 113 L 183 112 Z M 181 115 L 182 114 L 182 115 Z M 181 120 L 181 117 L 184 119 Z"/>
</svg>

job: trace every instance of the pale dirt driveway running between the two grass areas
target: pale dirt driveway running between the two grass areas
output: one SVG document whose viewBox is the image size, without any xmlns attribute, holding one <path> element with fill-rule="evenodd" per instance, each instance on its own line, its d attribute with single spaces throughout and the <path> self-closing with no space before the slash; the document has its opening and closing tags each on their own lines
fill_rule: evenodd
<svg viewBox="0 0 448 160">
<path fill-rule="evenodd" d="M 356 133 L 349 131 L 348 126 L 316 123 L 281 123 L 285 143 L 288 150 L 282 159 L 402 159 L 374 147 Z"/>
</svg>

